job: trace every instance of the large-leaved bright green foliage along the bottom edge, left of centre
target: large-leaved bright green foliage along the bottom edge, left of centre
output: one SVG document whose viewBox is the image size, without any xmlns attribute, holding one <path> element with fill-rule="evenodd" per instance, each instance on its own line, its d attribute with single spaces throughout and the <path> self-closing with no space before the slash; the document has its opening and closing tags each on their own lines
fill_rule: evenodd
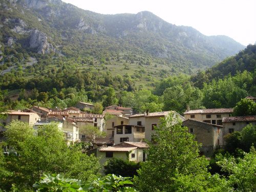
<svg viewBox="0 0 256 192">
<path fill-rule="evenodd" d="M 136 190 L 131 187 L 133 182 L 129 177 L 116 176 L 114 174 L 106 175 L 103 178 L 94 180 L 91 183 L 83 182 L 77 179 L 65 179 L 61 175 L 47 174 L 36 182 L 33 187 L 37 188 L 37 191 L 66 191 L 66 192 L 135 192 Z M 130 186 L 128 186 L 130 185 Z"/>
</svg>

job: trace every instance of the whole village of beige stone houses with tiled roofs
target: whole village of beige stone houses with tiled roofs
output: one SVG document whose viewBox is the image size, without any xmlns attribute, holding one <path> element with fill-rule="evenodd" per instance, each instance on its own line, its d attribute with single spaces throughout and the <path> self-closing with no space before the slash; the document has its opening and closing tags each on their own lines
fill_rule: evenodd
<svg viewBox="0 0 256 192">
<path fill-rule="evenodd" d="M 247 96 L 245 99 L 256 102 L 255 97 Z M 175 111 L 150 113 L 147 110 L 143 114 L 133 114 L 132 108 L 117 105 L 106 107 L 102 114 L 83 112 L 93 108 L 93 104 L 79 102 L 75 107 L 64 110 L 40 106 L 32 106 L 31 109 L 23 111 L 10 110 L 7 112 L 7 118 L 1 119 L 0 131 L 6 131 L 5 127 L 15 120 L 33 125 L 34 129 L 57 123 L 68 145 L 75 142 L 90 143 L 91 150 L 87 153 L 101 157 L 100 163 L 103 164 L 113 157 L 135 162 L 145 161 L 144 149 L 148 147 L 145 140 L 152 140 L 160 118 L 166 118 L 168 115 L 182 121 L 182 126 L 187 127 L 189 133 L 196 135 L 196 141 L 201 143 L 200 155 L 206 157 L 224 147 L 225 135 L 240 132 L 248 124 L 256 125 L 255 115 L 231 117 L 232 108 L 190 110 L 187 105 L 184 117 Z M 104 118 L 107 115 L 109 118 Z M 104 136 L 88 139 L 81 129 L 88 125 L 97 127 L 100 132 L 105 133 Z M 4 139 L 3 134 L 1 136 L 1 139 Z"/>
</svg>

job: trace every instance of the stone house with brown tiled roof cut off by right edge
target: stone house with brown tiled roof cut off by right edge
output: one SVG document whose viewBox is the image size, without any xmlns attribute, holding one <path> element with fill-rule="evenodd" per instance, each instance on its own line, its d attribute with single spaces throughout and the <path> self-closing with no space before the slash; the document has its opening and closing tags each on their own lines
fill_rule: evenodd
<svg viewBox="0 0 256 192">
<path fill-rule="evenodd" d="M 224 135 L 233 132 L 241 132 L 249 124 L 256 125 L 256 116 L 224 117 Z"/>
</svg>

